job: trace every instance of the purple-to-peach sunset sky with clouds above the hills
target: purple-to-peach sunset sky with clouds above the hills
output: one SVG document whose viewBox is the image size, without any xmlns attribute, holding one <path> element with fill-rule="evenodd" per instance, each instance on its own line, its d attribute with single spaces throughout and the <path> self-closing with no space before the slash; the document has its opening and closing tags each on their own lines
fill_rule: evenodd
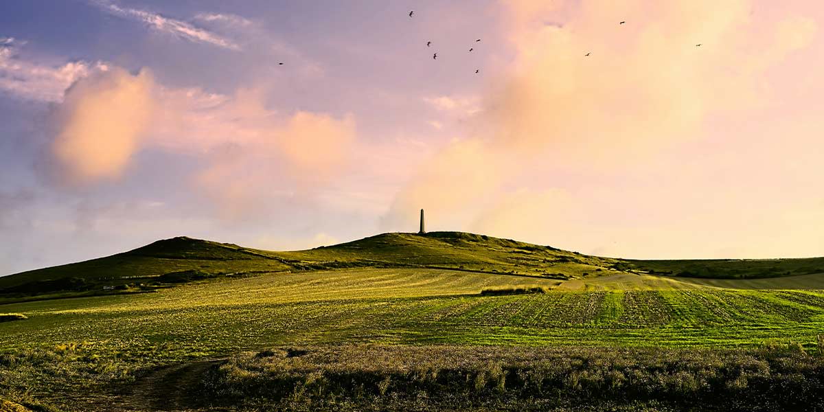
<svg viewBox="0 0 824 412">
<path fill-rule="evenodd" d="M 3 1 L 0 275 L 420 208 L 611 257 L 824 255 L 822 26 L 816 0 Z"/>
</svg>

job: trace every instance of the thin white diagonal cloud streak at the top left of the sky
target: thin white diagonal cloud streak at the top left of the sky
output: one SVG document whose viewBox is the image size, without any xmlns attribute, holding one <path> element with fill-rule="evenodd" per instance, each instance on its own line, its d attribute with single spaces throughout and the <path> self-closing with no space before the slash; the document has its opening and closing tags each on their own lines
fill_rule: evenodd
<svg viewBox="0 0 824 412">
<path fill-rule="evenodd" d="M 118 5 L 106 0 L 92 0 L 91 3 L 97 7 L 101 7 L 103 11 L 108 12 L 111 15 L 140 21 L 153 30 L 175 35 L 180 39 L 193 41 L 195 43 L 213 44 L 224 49 L 241 49 L 240 46 L 232 42 L 232 40 L 225 39 L 212 33 L 211 31 L 193 26 L 185 21 L 162 16 L 158 13 L 146 12 L 134 8 L 119 7 Z"/>
</svg>

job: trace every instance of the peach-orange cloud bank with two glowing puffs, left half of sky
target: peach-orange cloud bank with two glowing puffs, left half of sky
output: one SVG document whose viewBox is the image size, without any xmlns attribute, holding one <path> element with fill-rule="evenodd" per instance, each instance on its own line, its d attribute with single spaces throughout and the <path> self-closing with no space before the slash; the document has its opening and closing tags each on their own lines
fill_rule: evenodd
<svg viewBox="0 0 824 412">
<path fill-rule="evenodd" d="M 78 80 L 55 106 L 52 175 L 81 187 L 116 181 L 142 151 L 198 159 L 191 177 L 228 217 L 273 194 L 322 187 L 352 158 L 352 115 L 297 110 L 281 114 L 265 93 L 233 96 L 164 87 L 148 70 L 112 68 Z"/>
</svg>

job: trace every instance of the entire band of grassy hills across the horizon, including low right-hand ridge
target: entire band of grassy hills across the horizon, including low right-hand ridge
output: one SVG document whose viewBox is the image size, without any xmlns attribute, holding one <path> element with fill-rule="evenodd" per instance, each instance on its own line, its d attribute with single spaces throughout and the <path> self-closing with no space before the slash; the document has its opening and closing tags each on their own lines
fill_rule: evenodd
<svg viewBox="0 0 824 412">
<path fill-rule="evenodd" d="M 803 278 L 804 285 L 817 285 L 817 274 L 824 273 L 824 258 L 620 260 L 465 232 L 383 233 L 335 246 L 297 251 L 257 250 L 180 236 L 100 259 L 0 277 L 0 297 L 140 292 L 192 280 L 347 268 L 452 269 L 507 274 L 556 279 L 565 281 L 561 288 L 584 290 L 695 288 L 702 286 L 700 281 L 685 279 L 770 279 L 803 275 L 807 276 Z M 772 283 L 772 287 L 781 288 L 781 284 Z M 712 284 L 703 286 L 713 287 Z"/>
</svg>

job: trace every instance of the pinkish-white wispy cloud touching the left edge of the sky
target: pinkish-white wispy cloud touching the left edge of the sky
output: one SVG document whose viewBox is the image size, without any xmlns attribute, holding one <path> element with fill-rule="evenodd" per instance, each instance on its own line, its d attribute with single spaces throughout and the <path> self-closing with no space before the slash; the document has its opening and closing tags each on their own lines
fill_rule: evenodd
<svg viewBox="0 0 824 412">
<path fill-rule="evenodd" d="M 21 59 L 12 37 L 0 37 L 0 92 L 31 101 L 63 101 L 63 92 L 78 79 L 105 72 L 103 62 L 68 62 L 60 66 Z"/>
</svg>

